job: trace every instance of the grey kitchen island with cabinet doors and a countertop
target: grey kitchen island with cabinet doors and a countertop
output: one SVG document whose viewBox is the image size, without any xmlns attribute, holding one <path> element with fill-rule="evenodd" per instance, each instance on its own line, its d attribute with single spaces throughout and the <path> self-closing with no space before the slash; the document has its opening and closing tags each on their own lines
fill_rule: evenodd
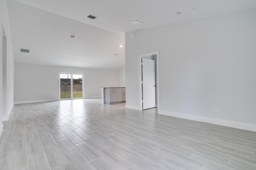
<svg viewBox="0 0 256 170">
<path fill-rule="evenodd" d="M 102 87 L 102 104 L 119 104 L 126 101 L 125 87 Z"/>
</svg>

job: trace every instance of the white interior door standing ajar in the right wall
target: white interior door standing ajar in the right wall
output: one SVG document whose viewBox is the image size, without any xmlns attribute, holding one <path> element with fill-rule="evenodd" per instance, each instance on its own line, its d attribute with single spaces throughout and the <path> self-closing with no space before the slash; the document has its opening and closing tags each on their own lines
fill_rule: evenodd
<svg viewBox="0 0 256 170">
<path fill-rule="evenodd" d="M 155 61 L 142 58 L 142 109 L 156 107 Z"/>
</svg>

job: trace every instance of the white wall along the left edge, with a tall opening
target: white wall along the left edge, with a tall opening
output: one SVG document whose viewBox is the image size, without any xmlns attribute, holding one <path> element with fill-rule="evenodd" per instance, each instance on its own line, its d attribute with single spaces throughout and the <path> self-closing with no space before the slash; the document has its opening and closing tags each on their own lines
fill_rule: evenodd
<svg viewBox="0 0 256 170">
<path fill-rule="evenodd" d="M 4 35 L 5 34 L 5 35 Z M 3 37 L 7 38 L 6 43 L 6 98 L 3 99 Z M 5 68 L 5 66 L 4 66 Z M 5 71 L 4 71 L 5 72 Z M 5 76 L 4 76 L 5 77 Z M 10 33 L 10 23 L 8 17 L 6 0 L 0 1 L 0 135 L 3 129 L 2 121 L 8 119 L 12 111 L 14 92 L 14 57 L 12 49 L 12 38 Z M 6 101 L 4 101 L 6 100 Z M 3 103 L 6 104 L 6 111 L 3 113 Z"/>
</svg>

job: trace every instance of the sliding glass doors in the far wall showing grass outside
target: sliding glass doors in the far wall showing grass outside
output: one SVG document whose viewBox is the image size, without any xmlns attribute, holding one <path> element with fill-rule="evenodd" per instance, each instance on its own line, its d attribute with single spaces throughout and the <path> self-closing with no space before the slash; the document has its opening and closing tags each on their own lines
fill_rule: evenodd
<svg viewBox="0 0 256 170">
<path fill-rule="evenodd" d="M 60 100 L 84 98 L 83 77 L 80 73 L 60 73 Z"/>
</svg>

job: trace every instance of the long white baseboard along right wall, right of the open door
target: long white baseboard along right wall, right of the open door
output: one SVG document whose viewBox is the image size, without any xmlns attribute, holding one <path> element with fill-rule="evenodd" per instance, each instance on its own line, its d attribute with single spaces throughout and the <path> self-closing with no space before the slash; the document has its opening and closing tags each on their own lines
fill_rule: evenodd
<svg viewBox="0 0 256 170">
<path fill-rule="evenodd" d="M 227 121 L 222 119 L 214 119 L 210 117 L 202 117 L 202 116 L 196 116 L 196 115 L 188 115 L 184 113 L 175 113 L 175 112 L 164 111 L 164 110 L 159 110 L 158 114 L 256 132 L 256 125 L 247 124 L 247 123 Z"/>
</svg>

